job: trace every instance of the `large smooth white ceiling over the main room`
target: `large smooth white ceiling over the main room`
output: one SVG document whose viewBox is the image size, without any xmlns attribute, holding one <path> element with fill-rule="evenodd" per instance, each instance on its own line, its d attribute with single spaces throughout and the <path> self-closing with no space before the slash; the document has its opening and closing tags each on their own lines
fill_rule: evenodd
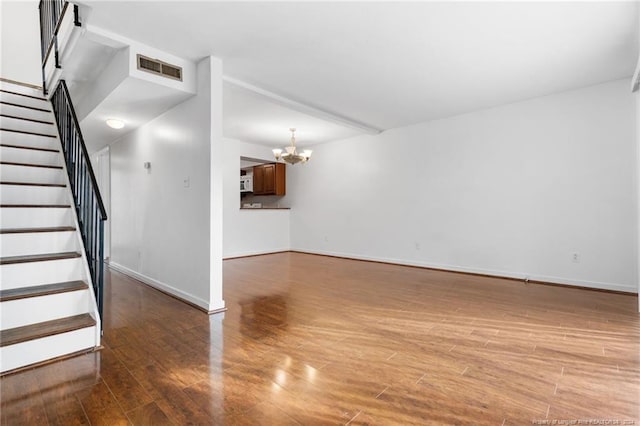
<svg viewBox="0 0 640 426">
<path fill-rule="evenodd" d="M 638 51 L 636 2 L 84 3 L 92 25 L 382 129 L 631 76 Z M 231 134 L 268 142 L 229 111 Z"/>
</svg>

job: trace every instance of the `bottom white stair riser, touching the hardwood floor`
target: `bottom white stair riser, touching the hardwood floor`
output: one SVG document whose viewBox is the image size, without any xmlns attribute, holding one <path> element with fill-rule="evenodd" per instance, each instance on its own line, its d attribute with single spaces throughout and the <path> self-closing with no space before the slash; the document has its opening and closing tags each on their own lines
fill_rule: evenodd
<svg viewBox="0 0 640 426">
<path fill-rule="evenodd" d="M 25 365 L 57 358 L 96 346 L 96 327 L 87 327 L 68 333 L 0 348 L 0 371 L 9 371 Z"/>
</svg>

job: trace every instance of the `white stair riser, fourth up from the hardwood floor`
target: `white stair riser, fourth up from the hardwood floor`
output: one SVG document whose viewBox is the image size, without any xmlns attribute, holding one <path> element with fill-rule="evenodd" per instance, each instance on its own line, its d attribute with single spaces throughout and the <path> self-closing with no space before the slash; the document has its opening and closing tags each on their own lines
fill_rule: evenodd
<svg viewBox="0 0 640 426">
<path fill-rule="evenodd" d="M 0 234 L 0 256 L 80 252 L 75 231 Z"/>
</svg>

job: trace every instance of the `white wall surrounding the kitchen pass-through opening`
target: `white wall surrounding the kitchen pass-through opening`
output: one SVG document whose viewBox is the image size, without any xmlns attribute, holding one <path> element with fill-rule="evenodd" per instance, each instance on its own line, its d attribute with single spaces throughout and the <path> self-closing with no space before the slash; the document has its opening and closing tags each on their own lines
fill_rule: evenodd
<svg viewBox="0 0 640 426">
<path fill-rule="evenodd" d="M 225 258 L 289 250 L 289 210 L 240 210 L 240 157 L 269 160 L 271 149 L 235 139 L 224 142 Z M 291 167 L 287 166 L 287 191 Z"/>
</svg>

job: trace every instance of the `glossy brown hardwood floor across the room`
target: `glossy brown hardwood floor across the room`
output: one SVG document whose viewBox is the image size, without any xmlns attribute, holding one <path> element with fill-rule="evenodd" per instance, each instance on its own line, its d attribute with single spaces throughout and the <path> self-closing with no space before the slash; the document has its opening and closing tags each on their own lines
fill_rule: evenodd
<svg viewBox="0 0 640 426">
<path fill-rule="evenodd" d="M 640 424 L 635 296 L 281 253 L 207 316 L 107 278 L 105 349 L 0 379 L 2 424 Z"/>
</svg>

